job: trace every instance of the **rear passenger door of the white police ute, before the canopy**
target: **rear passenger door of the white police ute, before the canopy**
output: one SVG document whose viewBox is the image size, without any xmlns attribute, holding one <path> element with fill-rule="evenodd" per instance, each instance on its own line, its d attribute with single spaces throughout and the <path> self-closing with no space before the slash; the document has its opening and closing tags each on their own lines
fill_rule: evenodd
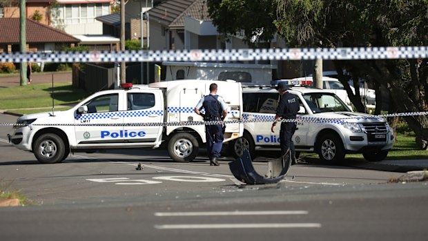
<svg viewBox="0 0 428 241">
<path fill-rule="evenodd" d="M 139 90 L 126 93 L 124 140 L 126 143 L 160 142 L 164 102 L 159 91 Z M 148 124 L 148 125 L 143 125 Z M 152 125 L 150 125 L 152 124 Z"/>
</svg>

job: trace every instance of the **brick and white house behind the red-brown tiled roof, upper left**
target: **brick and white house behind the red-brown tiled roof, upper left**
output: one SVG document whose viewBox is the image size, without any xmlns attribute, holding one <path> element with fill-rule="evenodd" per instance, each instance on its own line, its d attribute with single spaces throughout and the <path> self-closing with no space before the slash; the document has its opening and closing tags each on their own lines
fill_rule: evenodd
<svg viewBox="0 0 428 241">
<path fill-rule="evenodd" d="M 102 23 L 95 18 L 109 15 L 115 0 L 26 0 L 27 19 L 64 30 L 79 39 L 79 45 L 90 50 L 117 50 L 119 39 L 102 35 Z M 2 6 L 1 18 L 19 18 L 19 3 Z"/>
</svg>

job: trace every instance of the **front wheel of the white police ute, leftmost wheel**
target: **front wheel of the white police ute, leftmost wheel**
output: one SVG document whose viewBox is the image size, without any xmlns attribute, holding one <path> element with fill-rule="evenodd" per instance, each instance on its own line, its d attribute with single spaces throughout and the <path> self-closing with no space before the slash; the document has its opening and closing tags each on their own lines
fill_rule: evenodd
<svg viewBox="0 0 428 241">
<path fill-rule="evenodd" d="M 62 162 L 66 157 L 64 140 L 54 133 L 46 133 L 37 137 L 32 151 L 41 163 Z"/>
</svg>

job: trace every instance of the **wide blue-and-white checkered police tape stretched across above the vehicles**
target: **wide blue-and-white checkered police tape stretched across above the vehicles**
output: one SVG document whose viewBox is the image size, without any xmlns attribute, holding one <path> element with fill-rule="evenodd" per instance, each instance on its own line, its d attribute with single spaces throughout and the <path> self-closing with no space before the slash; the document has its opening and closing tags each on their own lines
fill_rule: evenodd
<svg viewBox="0 0 428 241">
<path fill-rule="evenodd" d="M 362 48 L 263 48 L 220 50 L 124 50 L 2 52 L 0 62 L 140 62 L 140 61 L 252 61 L 308 59 L 425 59 L 428 46 Z"/>
</svg>

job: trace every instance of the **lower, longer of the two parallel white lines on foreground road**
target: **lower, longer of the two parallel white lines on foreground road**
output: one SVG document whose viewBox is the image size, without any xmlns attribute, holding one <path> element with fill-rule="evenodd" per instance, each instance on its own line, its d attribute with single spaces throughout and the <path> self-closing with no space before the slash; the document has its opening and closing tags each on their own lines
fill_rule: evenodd
<svg viewBox="0 0 428 241">
<path fill-rule="evenodd" d="M 320 228 L 318 223 L 262 223 L 262 224 L 163 224 L 155 229 L 283 229 Z"/>
</svg>

